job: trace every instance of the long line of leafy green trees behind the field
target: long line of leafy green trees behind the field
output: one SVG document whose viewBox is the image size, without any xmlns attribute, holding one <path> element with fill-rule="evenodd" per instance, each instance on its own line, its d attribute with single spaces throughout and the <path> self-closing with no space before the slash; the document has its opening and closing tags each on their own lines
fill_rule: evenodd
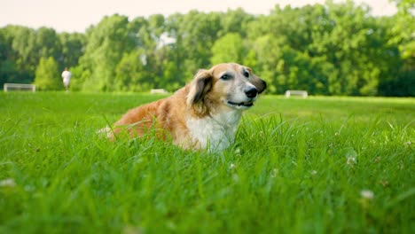
<svg viewBox="0 0 415 234">
<path fill-rule="evenodd" d="M 85 33 L 53 28 L 0 28 L 0 85 L 35 83 L 63 89 L 74 74 L 81 91 L 176 90 L 200 68 L 237 62 L 251 66 L 269 93 L 415 96 L 414 0 L 373 17 L 365 5 L 276 5 L 267 15 L 242 9 L 148 18 L 114 14 Z"/>
</svg>

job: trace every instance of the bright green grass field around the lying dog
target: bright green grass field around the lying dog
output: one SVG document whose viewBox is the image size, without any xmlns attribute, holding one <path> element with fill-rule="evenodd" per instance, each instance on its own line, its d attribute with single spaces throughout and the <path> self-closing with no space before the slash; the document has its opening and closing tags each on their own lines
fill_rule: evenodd
<svg viewBox="0 0 415 234">
<path fill-rule="evenodd" d="M 97 136 L 157 98 L 0 93 L 0 233 L 415 232 L 415 98 L 264 96 L 213 154 Z"/>
</svg>

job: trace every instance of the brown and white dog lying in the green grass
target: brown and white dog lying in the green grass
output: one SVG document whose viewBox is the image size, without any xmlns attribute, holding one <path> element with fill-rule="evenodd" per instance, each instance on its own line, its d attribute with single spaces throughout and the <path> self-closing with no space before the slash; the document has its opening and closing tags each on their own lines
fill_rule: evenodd
<svg viewBox="0 0 415 234">
<path fill-rule="evenodd" d="M 156 129 L 156 136 L 184 149 L 222 151 L 233 143 L 242 112 L 266 88 L 247 66 L 226 63 L 200 69 L 172 96 L 129 110 L 107 136 L 114 139 L 124 132 L 137 137 Z"/>
</svg>

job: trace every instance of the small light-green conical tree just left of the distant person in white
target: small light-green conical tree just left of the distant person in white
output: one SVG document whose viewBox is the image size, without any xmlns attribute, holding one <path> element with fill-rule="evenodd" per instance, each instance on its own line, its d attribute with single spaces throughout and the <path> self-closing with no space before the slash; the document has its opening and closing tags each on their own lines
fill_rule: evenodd
<svg viewBox="0 0 415 234">
<path fill-rule="evenodd" d="M 35 72 L 35 85 L 38 90 L 62 90 L 58 63 L 52 57 L 41 58 Z"/>
</svg>

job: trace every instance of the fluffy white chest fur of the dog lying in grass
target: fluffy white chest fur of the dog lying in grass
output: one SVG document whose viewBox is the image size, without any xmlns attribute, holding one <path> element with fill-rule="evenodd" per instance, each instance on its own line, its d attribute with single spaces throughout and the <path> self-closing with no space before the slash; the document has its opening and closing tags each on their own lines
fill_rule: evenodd
<svg viewBox="0 0 415 234">
<path fill-rule="evenodd" d="M 186 126 L 201 149 L 221 151 L 233 143 L 241 114 L 240 111 L 232 110 L 203 118 L 188 117 Z"/>
</svg>

